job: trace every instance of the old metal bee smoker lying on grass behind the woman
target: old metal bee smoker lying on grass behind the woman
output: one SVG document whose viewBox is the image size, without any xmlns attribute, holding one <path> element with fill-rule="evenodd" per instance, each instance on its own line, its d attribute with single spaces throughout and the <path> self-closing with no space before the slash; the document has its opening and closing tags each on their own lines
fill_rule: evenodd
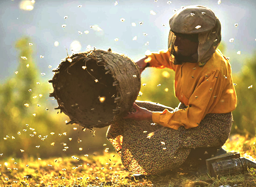
<svg viewBox="0 0 256 187">
<path fill-rule="evenodd" d="M 240 153 L 231 152 L 206 160 L 207 172 L 211 177 L 231 175 L 247 171 L 247 167 L 256 168 L 256 162 L 240 157 Z"/>
</svg>

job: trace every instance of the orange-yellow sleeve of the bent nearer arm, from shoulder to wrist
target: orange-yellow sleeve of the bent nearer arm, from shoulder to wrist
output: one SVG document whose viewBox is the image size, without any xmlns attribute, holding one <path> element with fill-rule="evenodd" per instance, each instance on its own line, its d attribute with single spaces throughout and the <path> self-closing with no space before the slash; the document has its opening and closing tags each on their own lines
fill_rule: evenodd
<svg viewBox="0 0 256 187">
<path fill-rule="evenodd" d="M 203 79 L 203 78 L 202 78 Z M 220 71 L 213 71 L 208 79 L 201 81 L 188 101 L 188 108 L 163 112 L 153 112 L 155 123 L 177 130 L 180 126 L 186 129 L 199 125 L 207 113 L 211 113 L 218 103 L 223 90 L 223 75 Z"/>
</svg>

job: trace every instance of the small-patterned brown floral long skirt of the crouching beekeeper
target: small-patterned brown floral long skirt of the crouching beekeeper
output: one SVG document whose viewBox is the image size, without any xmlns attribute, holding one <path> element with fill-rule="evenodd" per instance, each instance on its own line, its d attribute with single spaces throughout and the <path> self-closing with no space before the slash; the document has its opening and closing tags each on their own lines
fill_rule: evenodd
<svg viewBox="0 0 256 187">
<path fill-rule="evenodd" d="M 152 102 L 136 101 L 136 104 L 150 111 L 166 108 Z M 179 108 L 186 106 L 181 104 Z M 131 111 L 134 112 L 134 109 Z M 196 164 L 195 156 L 196 160 L 201 160 L 209 152 L 193 150 L 221 148 L 229 137 L 232 121 L 232 113 L 211 113 L 195 128 L 181 126 L 173 130 L 153 121 L 122 119 L 109 126 L 106 138 L 128 171 L 153 175 L 192 167 Z M 192 152 L 194 155 L 191 156 Z"/>
</svg>

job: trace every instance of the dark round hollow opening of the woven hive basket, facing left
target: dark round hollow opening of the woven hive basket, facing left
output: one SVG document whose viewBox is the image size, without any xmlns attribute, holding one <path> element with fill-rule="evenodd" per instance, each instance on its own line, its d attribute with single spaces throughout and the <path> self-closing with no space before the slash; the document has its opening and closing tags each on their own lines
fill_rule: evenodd
<svg viewBox="0 0 256 187">
<path fill-rule="evenodd" d="M 86 59 L 85 68 L 85 60 L 80 59 L 72 64 L 65 63 L 62 68 L 65 71 L 59 73 L 56 87 L 65 110 L 72 113 L 74 119 L 88 124 L 111 121 L 117 91 L 111 74 L 105 74 L 105 67 L 99 66 L 96 59 Z"/>
</svg>

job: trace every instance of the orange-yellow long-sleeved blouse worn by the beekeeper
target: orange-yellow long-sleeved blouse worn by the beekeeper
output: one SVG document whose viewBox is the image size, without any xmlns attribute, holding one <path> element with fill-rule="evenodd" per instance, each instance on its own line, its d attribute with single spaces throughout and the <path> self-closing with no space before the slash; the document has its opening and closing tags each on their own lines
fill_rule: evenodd
<svg viewBox="0 0 256 187">
<path fill-rule="evenodd" d="M 208 113 L 229 113 L 236 108 L 231 65 L 220 50 L 216 49 L 204 66 L 190 62 L 175 65 L 168 50 L 147 57 L 150 66 L 175 71 L 175 95 L 188 106 L 185 110 L 153 112 L 153 122 L 175 130 L 180 126 L 188 129 L 198 126 Z"/>
</svg>

